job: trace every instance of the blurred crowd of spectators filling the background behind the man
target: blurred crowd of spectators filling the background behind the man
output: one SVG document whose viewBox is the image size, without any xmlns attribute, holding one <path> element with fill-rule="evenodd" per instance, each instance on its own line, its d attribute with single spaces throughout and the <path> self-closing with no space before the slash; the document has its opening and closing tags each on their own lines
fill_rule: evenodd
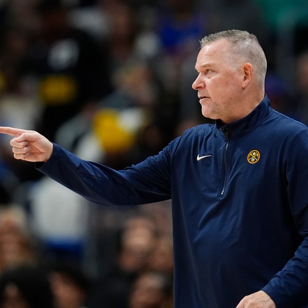
<svg viewBox="0 0 308 308">
<path fill-rule="evenodd" d="M 0 126 L 122 169 L 202 118 L 199 40 L 242 29 L 272 106 L 308 125 L 304 0 L 2 0 Z M 171 308 L 170 201 L 90 204 L 15 161 L 0 136 L 0 308 Z M 104 187 L 102 187 L 103 191 Z"/>
</svg>

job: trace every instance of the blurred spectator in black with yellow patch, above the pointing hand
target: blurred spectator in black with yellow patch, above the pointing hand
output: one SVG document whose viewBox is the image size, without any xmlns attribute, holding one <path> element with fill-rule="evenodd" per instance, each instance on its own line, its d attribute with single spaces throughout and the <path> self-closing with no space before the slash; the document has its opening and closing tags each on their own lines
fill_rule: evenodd
<svg viewBox="0 0 308 308">
<path fill-rule="evenodd" d="M 40 28 L 30 48 L 43 115 L 38 130 L 54 139 L 61 124 L 109 90 L 106 50 L 87 32 L 74 29 L 60 0 L 40 0 Z"/>
</svg>

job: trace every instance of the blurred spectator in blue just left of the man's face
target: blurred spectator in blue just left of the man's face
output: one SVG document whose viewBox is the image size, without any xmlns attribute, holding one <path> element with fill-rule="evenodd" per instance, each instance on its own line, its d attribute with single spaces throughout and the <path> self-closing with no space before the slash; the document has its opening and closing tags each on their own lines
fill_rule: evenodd
<svg viewBox="0 0 308 308">
<path fill-rule="evenodd" d="M 191 127 L 191 119 L 196 124 L 201 118 L 191 81 L 195 78 L 198 41 L 209 33 L 209 16 L 207 7 L 194 1 L 168 0 L 157 8 L 160 52 L 153 70 L 163 85 L 159 117 L 164 122 L 163 130 L 169 132 L 168 141 L 175 137 L 179 122 Z"/>
</svg>

